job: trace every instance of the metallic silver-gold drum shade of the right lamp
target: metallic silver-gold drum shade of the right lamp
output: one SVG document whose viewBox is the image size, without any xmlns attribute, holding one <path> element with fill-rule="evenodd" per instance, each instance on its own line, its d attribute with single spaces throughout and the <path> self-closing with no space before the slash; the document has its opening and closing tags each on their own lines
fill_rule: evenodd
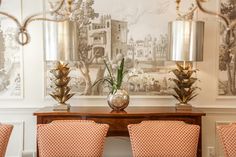
<svg viewBox="0 0 236 157">
<path fill-rule="evenodd" d="M 204 22 L 169 22 L 168 60 L 203 61 Z"/>
</svg>

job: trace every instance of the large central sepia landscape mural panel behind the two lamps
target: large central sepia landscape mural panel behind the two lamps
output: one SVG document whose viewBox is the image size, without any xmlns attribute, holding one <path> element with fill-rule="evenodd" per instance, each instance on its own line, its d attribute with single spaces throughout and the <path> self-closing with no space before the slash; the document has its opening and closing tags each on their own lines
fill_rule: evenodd
<svg viewBox="0 0 236 157">
<path fill-rule="evenodd" d="M 48 1 L 44 3 L 47 9 Z M 186 3 L 183 6 L 191 6 Z M 176 19 L 175 8 L 173 0 L 94 0 L 91 9 L 98 16 L 84 30 L 91 49 L 84 60 L 70 63 L 72 92 L 79 97 L 106 96 L 106 85 L 92 87 L 107 75 L 103 59 L 115 68 L 125 57 L 128 74 L 123 88 L 132 97 L 170 98 L 169 78 L 175 63 L 166 61 L 167 31 L 168 22 Z M 45 62 L 45 96 L 52 91 L 53 64 Z"/>
</svg>

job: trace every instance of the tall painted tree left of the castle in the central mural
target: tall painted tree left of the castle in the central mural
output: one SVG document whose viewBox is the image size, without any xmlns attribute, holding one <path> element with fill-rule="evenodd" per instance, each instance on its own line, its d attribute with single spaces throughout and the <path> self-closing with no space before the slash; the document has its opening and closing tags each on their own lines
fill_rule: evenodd
<svg viewBox="0 0 236 157">
<path fill-rule="evenodd" d="M 79 62 L 77 64 L 80 73 L 84 77 L 85 81 L 85 89 L 83 95 L 91 95 L 92 93 L 92 81 L 90 76 L 89 67 L 94 61 L 94 59 L 98 57 L 102 57 L 103 54 L 98 50 L 95 51 L 94 54 L 91 53 L 92 45 L 88 45 L 88 25 L 90 21 L 98 16 L 97 13 L 94 12 L 92 5 L 94 4 L 94 0 L 84 0 L 81 3 L 81 9 L 75 14 L 75 19 L 78 22 L 78 53 L 79 53 Z M 103 69 L 101 69 L 104 71 Z M 102 73 L 101 71 L 101 73 Z"/>
</svg>

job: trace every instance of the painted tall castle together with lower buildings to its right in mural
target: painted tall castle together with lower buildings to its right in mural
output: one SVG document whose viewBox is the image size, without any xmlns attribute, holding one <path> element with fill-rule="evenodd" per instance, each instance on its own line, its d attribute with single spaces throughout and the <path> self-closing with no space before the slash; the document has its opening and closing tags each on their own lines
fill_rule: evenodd
<svg viewBox="0 0 236 157">
<path fill-rule="evenodd" d="M 114 20 L 110 15 L 100 16 L 98 22 L 88 26 L 88 44 L 92 45 L 92 54 L 100 52 L 113 60 L 123 54 L 133 62 L 163 66 L 166 60 L 167 36 L 158 39 L 147 35 L 143 40 L 128 41 L 128 23 Z"/>
</svg>

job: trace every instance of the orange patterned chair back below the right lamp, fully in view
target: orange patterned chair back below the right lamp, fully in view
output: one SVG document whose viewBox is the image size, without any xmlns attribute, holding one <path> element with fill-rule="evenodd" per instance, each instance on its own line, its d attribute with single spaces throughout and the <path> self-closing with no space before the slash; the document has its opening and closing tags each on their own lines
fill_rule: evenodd
<svg viewBox="0 0 236 157">
<path fill-rule="evenodd" d="M 200 127 L 181 121 L 128 125 L 134 157 L 196 157 Z"/>
</svg>

